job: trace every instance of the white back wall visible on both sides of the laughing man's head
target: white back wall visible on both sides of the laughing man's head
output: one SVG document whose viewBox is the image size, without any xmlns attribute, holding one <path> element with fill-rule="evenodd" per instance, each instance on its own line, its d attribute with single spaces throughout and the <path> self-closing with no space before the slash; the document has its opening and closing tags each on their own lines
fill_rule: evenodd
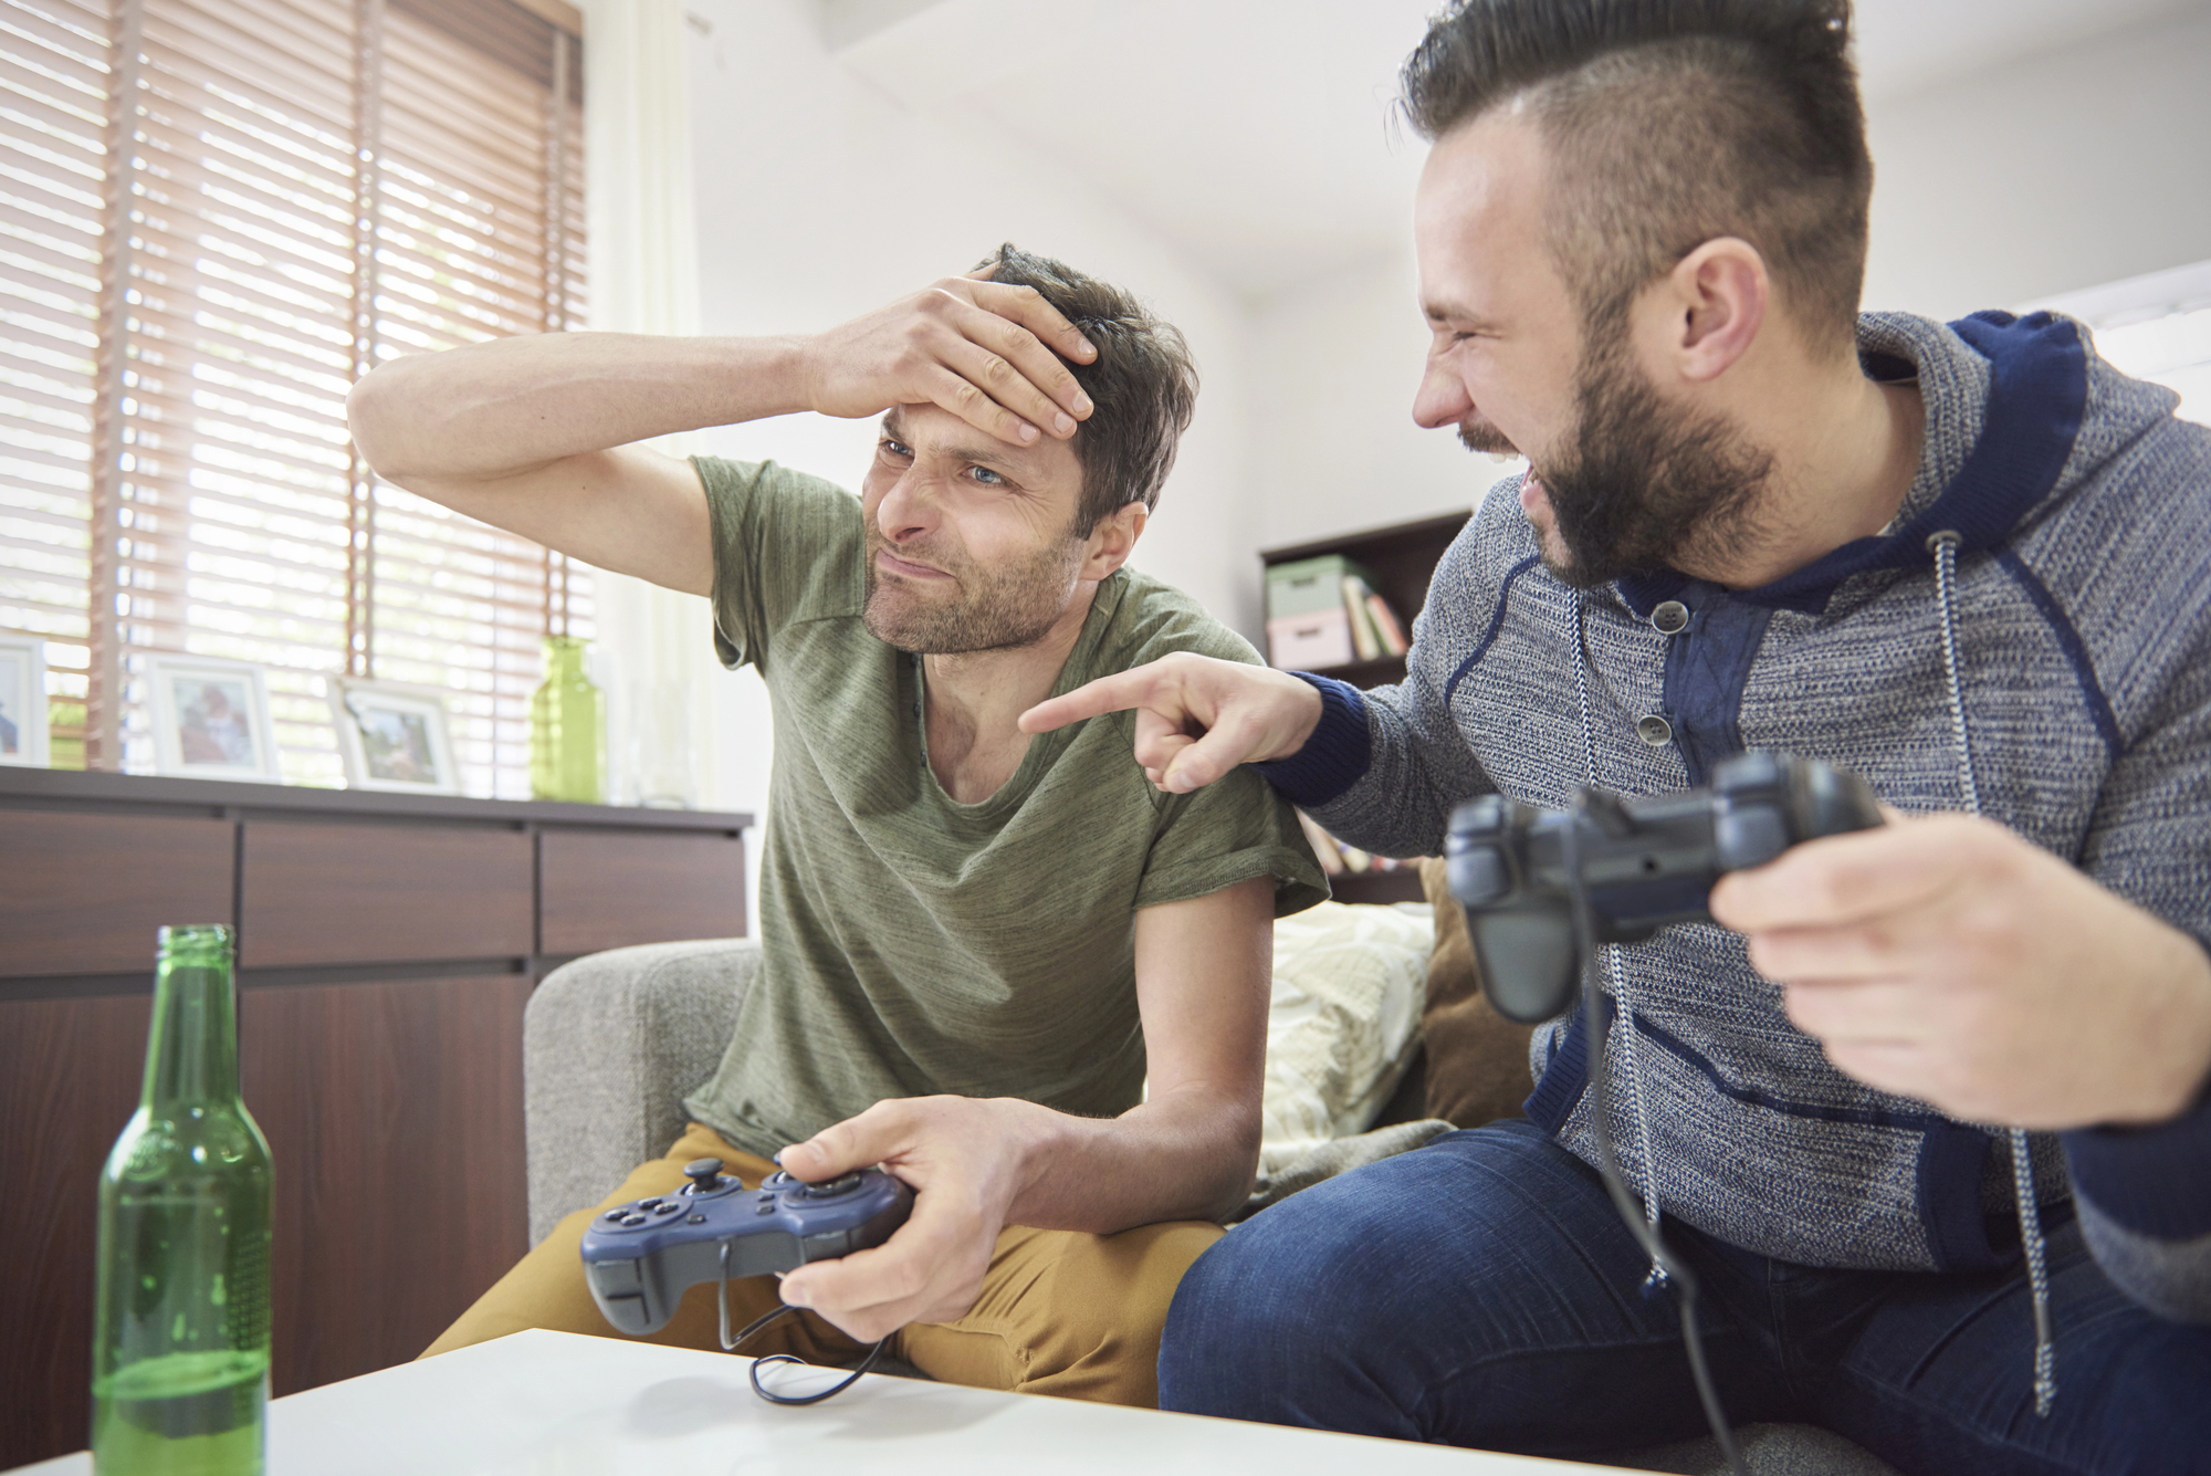
<svg viewBox="0 0 2211 1476">
<path fill-rule="evenodd" d="M 1866 113 L 1871 307 L 1959 316 L 2211 259 L 2211 7 Z M 1411 250 L 1260 303 L 1260 544 L 1473 506 L 1506 471 L 1413 424 L 1424 349 Z"/>
</svg>

